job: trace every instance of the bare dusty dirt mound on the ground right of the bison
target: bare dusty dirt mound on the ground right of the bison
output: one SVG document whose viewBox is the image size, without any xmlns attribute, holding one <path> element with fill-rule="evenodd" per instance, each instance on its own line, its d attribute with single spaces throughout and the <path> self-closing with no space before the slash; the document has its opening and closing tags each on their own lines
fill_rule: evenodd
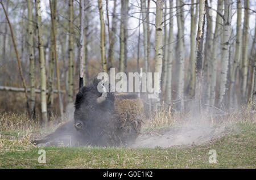
<svg viewBox="0 0 256 180">
<path fill-rule="evenodd" d="M 143 132 L 138 136 L 132 148 L 172 147 L 174 145 L 204 144 L 229 134 L 226 126 L 183 126 L 166 130 Z"/>
</svg>

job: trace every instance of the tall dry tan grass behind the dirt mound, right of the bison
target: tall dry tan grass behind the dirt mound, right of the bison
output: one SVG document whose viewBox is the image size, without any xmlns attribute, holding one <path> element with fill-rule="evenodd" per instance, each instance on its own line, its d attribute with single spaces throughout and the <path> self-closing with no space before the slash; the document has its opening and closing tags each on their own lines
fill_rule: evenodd
<svg viewBox="0 0 256 180">
<path fill-rule="evenodd" d="M 152 116 L 146 119 L 144 129 L 159 129 L 169 126 L 176 126 L 183 123 L 210 123 L 212 125 L 226 125 L 237 122 L 256 122 L 256 104 L 242 106 L 240 109 L 233 109 L 214 114 L 209 112 L 195 113 L 193 111 L 177 112 L 171 107 L 156 109 Z"/>
</svg>

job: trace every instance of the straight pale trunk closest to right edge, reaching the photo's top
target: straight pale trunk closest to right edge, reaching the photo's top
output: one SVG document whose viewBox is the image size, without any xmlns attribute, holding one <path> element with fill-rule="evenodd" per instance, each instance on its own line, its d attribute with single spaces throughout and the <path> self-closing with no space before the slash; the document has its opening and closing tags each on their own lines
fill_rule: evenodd
<svg viewBox="0 0 256 180">
<path fill-rule="evenodd" d="M 242 102 L 246 103 L 246 89 L 247 89 L 247 74 L 248 74 L 248 38 L 249 38 L 249 18 L 250 1 L 245 0 L 245 16 L 243 22 L 243 36 L 242 36 Z"/>
</svg>

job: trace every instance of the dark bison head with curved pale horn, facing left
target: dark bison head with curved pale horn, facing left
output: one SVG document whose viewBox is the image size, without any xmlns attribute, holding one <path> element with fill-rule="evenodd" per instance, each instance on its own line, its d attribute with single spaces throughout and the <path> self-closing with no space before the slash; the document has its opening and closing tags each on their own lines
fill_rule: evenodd
<svg viewBox="0 0 256 180">
<path fill-rule="evenodd" d="M 102 137 L 114 111 L 114 94 L 106 92 L 104 85 L 99 92 L 98 83 L 100 80 L 94 79 L 92 84 L 80 88 L 75 101 L 74 126 L 89 142 Z"/>
</svg>

